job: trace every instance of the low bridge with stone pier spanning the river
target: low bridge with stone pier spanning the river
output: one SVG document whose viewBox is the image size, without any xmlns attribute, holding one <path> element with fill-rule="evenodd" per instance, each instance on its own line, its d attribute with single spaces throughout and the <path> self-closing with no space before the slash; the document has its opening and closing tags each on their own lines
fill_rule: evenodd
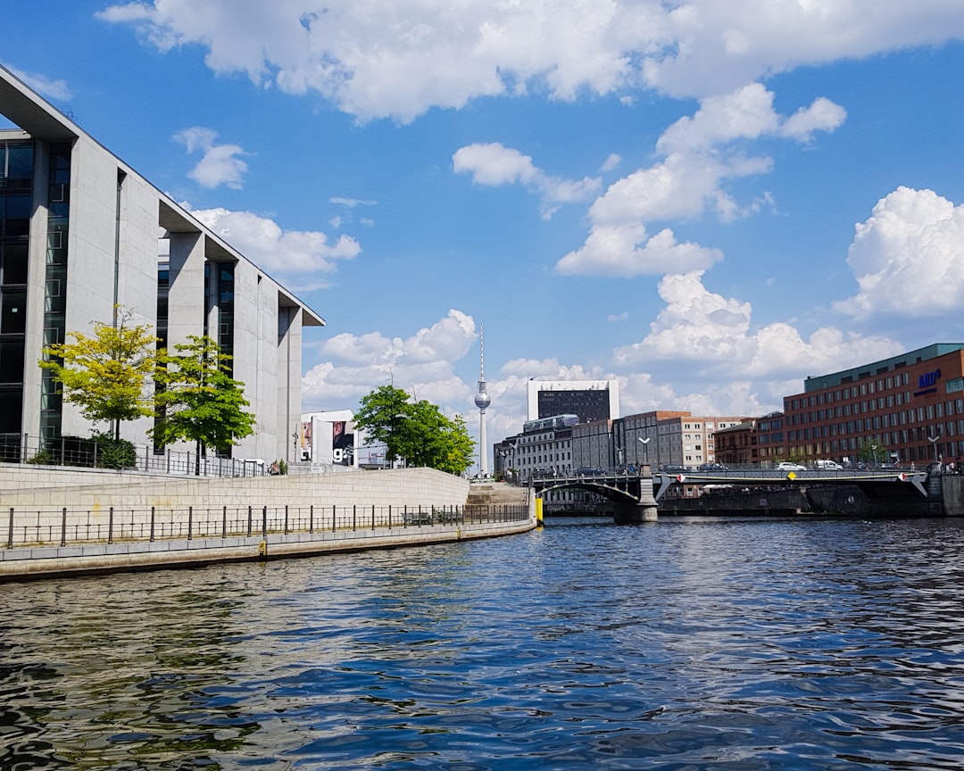
<svg viewBox="0 0 964 771">
<path fill-rule="evenodd" d="M 537 494 L 557 490 L 583 490 L 611 500 L 616 505 L 616 521 L 639 522 L 656 519 L 659 501 L 674 487 L 697 486 L 703 491 L 725 494 L 774 489 L 792 490 L 809 486 L 856 486 L 870 498 L 905 498 L 909 490 L 926 498 L 927 474 L 924 471 L 894 469 L 784 471 L 769 468 L 683 471 L 676 474 L 643 474 L 610 469 L 592 474 L 556 474 L 533 477 L 528 485 Z M 900 485 L 900 488 L 894 488 Z"/>
</svg>

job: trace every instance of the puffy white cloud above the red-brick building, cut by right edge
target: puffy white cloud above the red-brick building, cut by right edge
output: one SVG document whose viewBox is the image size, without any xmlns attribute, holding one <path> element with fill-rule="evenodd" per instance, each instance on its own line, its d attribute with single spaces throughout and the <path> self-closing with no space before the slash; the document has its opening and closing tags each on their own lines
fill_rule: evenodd
<svg viewBox="0 0 964 771">
<path fill-rule="evenodd" d="M 857 224 L 847 264 L 860 288 L 834 304 L 842 313 L 866 319 L 958 310 L 964 306 L 964 205 L 932 190 L 898 187 Z"/>
</svg>

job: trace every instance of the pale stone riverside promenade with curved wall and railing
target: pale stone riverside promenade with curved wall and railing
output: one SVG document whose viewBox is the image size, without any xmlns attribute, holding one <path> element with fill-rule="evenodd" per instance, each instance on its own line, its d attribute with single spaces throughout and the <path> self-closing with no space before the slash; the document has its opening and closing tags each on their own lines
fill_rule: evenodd
<svg viewBox="0 0 964 771">
<path fill-rule="evenodd" d="M 204 478 L 0 466 L 0 581 L 491 538 L 524 488 L 431 468 Z"/>
</svg>

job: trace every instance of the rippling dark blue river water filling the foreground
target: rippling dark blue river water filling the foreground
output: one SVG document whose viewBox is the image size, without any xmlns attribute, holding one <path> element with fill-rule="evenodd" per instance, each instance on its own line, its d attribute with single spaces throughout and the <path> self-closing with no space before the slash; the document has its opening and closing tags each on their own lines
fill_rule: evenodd
<svg viewBox="0 0 964 771">
<path fill-rule="evenodd" d="M 549 519 L 0 586 L 0 768 L 964 766 L 964 522 Z"/>
</svg>

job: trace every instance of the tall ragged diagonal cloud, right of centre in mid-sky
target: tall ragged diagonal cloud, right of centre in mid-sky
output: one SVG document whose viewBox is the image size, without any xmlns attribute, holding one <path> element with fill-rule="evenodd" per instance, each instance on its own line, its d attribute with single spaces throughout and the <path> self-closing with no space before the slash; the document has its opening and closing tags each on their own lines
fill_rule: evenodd
<svg viewBox="0 0 964 771">
<path fill-rule="evenodd" d="M 678 244 L 668 228 L 651 236 L 648 225 L 695 219 L 707 209 L 724 222 L 759 210 L 768 196 L 740 205 L 726 190 L 731 180 L 771 169 L 769 158 L 747 154 L 743 143 L 767 136 L 808 142 L 844 117 L 843 108 L 821 98 L 784 118 L 773 109 L 773 93 L 759 83 L 704 99 L 692 117 L 677 120 L 657 140 L 664 160 L 623 177 L 596 199 L 585 243 L 562 257 L 556 270 L 632 277 L 709 268 L 723 258 L 721 252 Z"/>
</svg>

